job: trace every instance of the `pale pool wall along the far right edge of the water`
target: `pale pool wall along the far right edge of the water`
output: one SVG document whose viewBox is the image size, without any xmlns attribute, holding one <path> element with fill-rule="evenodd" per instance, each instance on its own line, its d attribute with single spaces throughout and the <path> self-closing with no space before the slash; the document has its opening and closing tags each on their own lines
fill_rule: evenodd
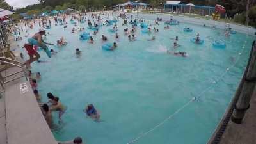
<svg viewBox="0 0 256 144">
<path fill-rule="evenodd" d="M 131 13 L 129 13 L 131 15 Z M 154 16 L 150 13 L 132 13 L 134 16 L 138 16 L 139 18 L 144 18 L 144 19 L 150 19 L 150 20 L 156 20 L 157 17 L 161 17 L 164 21 L 170 20 L 171 14 L 166 14 L 166 13 L 156 13 Z M 225 29 L 226 28 L 226 23 L 227 22 L 221 22 L 221 21 L 216 21 L 216 20 L 210 20 L 210 19 L 202 19 L 198 17 L 187 17 L 187 16 L 182 16 L 182 15 L 173 15 L 175 20 L 178 20 L 179 22 L 184 22 L 184 23 L 189 23 L 189 24 L 196 24 L 196 25 L 204 25 L 205 26 L 216 26 L 218 29 Z M 230 27 L 239 33 L 248 33 L 248 35 L 255 35 L 256 33 L 256 28 L 253 28 L 251 26 L 244 26 L 241 24 L 233 24 L 230 23 Z"/>
</svg>

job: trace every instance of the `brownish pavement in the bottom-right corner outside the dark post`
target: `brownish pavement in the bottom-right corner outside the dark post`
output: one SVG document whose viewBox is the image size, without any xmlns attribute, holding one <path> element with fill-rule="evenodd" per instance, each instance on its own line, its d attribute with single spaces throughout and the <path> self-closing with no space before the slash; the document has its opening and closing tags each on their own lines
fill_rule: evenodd
<svg viewBox="0 0 256 144">
<path fill-rule="evenodd" d="M 220 144 L 255 144 L 256 143 L 256 89 L 253 93 L 250 109 L 246 111 L 242 124 L 230 120 Z"/>
</svg>

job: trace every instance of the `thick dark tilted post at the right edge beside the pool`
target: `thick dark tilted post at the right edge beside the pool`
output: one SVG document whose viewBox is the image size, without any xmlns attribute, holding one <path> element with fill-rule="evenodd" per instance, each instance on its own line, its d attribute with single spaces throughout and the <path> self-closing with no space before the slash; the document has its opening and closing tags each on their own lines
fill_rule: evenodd
<svg viewBox="0 0 256 144">
<path fill-rule="evenodd" d="M 250 100 L 256 85 L 256 42 L 253 42 L 250 60 L 248 61 L 248 70 L 245 74 L 244 83 L 241 86 L 239 99 L 232 115 L 232 122 L 241 124 L 247 109 L 250 108 Z"/>
</svg>

